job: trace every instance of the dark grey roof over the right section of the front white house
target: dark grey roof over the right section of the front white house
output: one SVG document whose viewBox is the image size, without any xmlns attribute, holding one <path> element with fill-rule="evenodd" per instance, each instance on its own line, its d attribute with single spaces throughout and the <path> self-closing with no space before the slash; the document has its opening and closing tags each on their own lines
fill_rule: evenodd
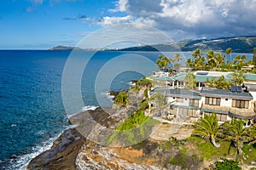
<svg viewBox="0 0 256 170">
<path fill-rule="evenodd" d="M 237 93 L 230 90 L 216 89 L 216 88 L 202 88 L 201 96 L 216 97 L 216 98 L 228 98 L 228 99 L 244 99 L 251 100 L 253 96 L 249 93 Z"/>
</svg>

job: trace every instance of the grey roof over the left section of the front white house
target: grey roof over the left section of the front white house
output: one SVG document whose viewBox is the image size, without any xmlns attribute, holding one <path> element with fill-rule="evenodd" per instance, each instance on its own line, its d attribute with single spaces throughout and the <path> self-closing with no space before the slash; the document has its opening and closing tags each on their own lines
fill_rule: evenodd
<svg viewBox="0 0 256 170">
<path fill-rule="evenodd" d="M 168 97 L 178 97 L 185 99 L 201 99 L 200 93 L 198 91 L 191 91 L 185 89 L 170 89 L 170 88 L 155 88 L 150 91 L 150 94 L 160 92 L 161 94 L 166 94 Z"/>
</svg>

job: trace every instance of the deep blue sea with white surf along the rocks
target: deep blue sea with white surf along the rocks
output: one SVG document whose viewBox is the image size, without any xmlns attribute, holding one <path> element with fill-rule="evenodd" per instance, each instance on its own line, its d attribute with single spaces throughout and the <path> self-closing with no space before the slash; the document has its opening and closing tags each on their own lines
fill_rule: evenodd
<svg viewBox="0 0 256 170">
<path fill-rule="evenodd" d="M 70 126 L 67 123 L 68 116 L 82 109 L 81 105 L 76 105 L 79 102 L 76 102 L 73 96 L 78 93 L 76 90 L 82 95 L 84 106 L 98 106 L 97 93 L 104 101 L 103 105 L 110 106 L 112 102 L 108 96 L 109 89 L 129 88 L 131 80 L 148 76 L 156 69 L 137 56 L 154 62 L 160 53 L 75 53 L 75 65 L 70 74 L 65 75 L 70 77 L 70 85 L 67 86 L 70 86 L 71 90 L 67 92 L 70 94 L 63 94 L 61 79 L 70 54 L 71 51 L 0 50 L 0 169 L 26 169 L 26 164 L 34 156 L 49 149 L 61 132 Z M 130 59 L 129 56 L 133 58 Z M 184 57 L 189 56 L 189 53 L 184 54 Z M 247 58 L 251 59 L 252 54 L 247 54 Z M 73 77 L 78 73 L 77 70 L 79 71 L 76 65 L 79 67 L 84 59 L 89 62 L 82 73 L 80 87 L 73 88 L 77 83 L 73 82 Z M 130 70 L 126 68 L 127 65 L 131 65 Z M 143 75 L 136 72 L 140 69 L 143 70 Z M 99 73 L 102 73 L 103 77 L 98 78 Z M 103 84 L 108 82 L 108 75 L 111 74 L 116 76 L 110 81 L 109 88 L 106 88 Z M 102 83 L 97 91 L 96 82 Z M 62 102 L 63 95 L 73 99 L 73 110 L 68 111 L 68 114 Z"/>
</svg>

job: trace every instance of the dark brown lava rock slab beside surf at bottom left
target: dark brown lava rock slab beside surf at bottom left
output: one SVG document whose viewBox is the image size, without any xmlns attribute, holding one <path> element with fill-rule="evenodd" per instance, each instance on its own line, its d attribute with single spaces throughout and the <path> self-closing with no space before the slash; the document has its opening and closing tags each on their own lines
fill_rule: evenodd
<svg viewBox="0 0 256 170">
<path fill-rule="evenodd" d="M 76 156 L 84 144 L 84 136 L 77 129 L 65 130 L 55 140 L 50 150 L 44 151 L 29 162 L 27 169 L 48 170 L 48 169 L 75 169 Z"/>
</svg>

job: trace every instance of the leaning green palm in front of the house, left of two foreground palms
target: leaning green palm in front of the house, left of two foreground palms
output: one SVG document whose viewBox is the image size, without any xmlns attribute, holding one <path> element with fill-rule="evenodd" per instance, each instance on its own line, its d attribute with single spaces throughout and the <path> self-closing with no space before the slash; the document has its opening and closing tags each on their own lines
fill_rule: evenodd
<svg viewBox="0 0 256 170">
<path fill-rule="evenodd" d="M 209 141 L 218 148 L 220 146 L 220 144 L 216 143 L 218 130 L 217 116 L 213 113 L 211 116 L 205 115 L 203 119 L 199 119 L 198 122 L 195 122 L 195 130 L 193 133 L 209 139 Z"/>
</svg>

